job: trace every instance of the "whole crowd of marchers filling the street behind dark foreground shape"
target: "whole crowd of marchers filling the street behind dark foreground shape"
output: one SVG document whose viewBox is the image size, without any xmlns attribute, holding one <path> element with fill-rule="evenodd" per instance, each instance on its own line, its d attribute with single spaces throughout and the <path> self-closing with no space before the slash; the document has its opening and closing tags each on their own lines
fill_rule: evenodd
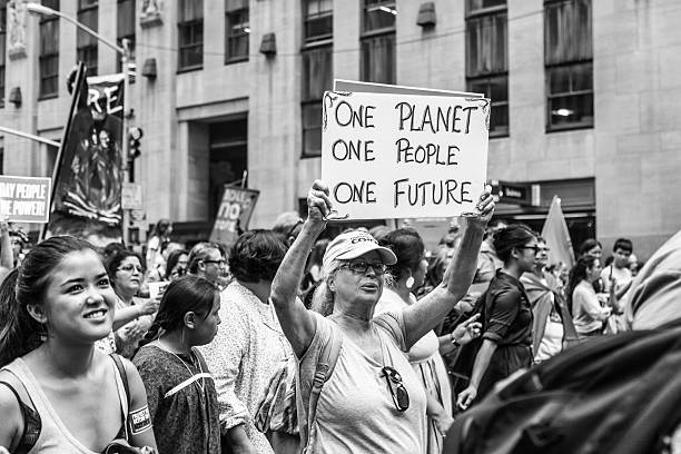
<svg viewBox="0 0 681 454">
<path fill-rule="evenodd" d="M 144 256 L 27 249 L 1 221 L 0 453 L 437 454 L 499 381 L 631 326 L 636 274 L 658 276 L 625 238 L 551 264 L 486 191 L 433 250 L 412 228 L 319 238 L 328 188 L 307 203 L 229 249 L 162 219 Z"/>
</svg>

